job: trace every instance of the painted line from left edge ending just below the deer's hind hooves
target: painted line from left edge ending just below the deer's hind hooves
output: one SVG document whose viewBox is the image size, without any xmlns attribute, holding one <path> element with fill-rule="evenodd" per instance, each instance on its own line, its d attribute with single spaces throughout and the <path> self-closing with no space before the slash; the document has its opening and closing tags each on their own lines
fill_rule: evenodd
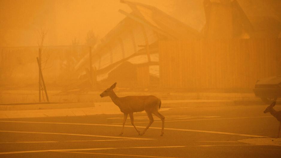
<svg viewBox="0 0 281 158">
<path fill-rule="evenodd" d="M 100 135 L 73 134 L 73 133 L 26 132 L 26 131 L 6 131 L 6 130 L 0 130 L 0 132 L 9 132 L 9 133 L 35 133 L 35 134 L 56 134 L 56 135 L 70 135 L 70 136 L 87 136 L 87 137 L 102 137 L 102 138 L 120 138 L 120 139 L 152 140 L 152 139 L 148 139 L 148 138 L 100 136 Z"/>
</svg>

